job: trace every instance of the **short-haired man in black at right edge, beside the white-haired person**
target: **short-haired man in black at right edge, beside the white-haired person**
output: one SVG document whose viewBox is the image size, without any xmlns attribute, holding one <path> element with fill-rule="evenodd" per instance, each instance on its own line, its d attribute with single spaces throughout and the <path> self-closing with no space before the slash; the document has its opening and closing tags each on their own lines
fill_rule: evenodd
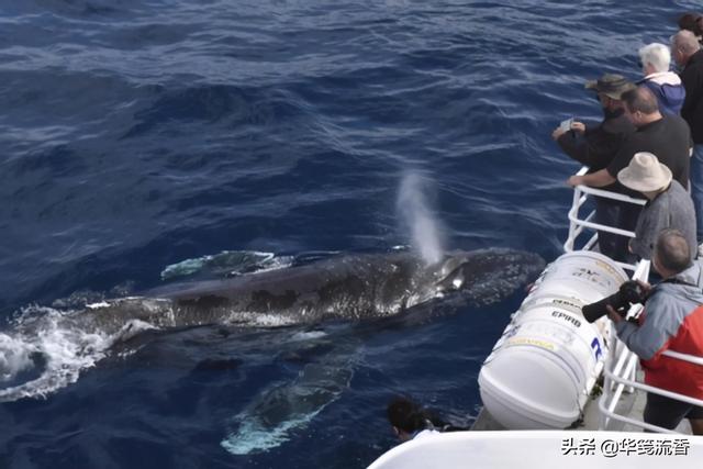
<svg viewBox="0 0 703 469">
<path fill-rule="evenodd" d="M 681 81 L 685 99 L 681 116 L 689 123 L 693 136 L 691 160 L 691 197 L 698 217 L 696 237 L 703 242 L 703 49 L 693 33 L 679 31 L 671 41 L 671 55 L 682 67 Z"/>
</svg>

